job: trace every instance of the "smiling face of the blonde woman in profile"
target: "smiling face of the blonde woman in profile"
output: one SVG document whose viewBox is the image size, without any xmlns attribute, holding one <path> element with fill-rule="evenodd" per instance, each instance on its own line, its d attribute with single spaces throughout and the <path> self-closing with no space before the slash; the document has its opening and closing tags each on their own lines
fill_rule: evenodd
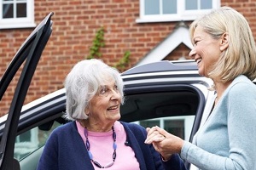
<svg viewBox="0 0 256 170">
<path fill-rule="evenodd" d="M 201 26 L 197 26 L 193 35 L 193 44 L 194 48 L 189 56 L 195 59 L 199 74 L 207 77 L 212 65 L 218 61 L 221 54 L 221 39 L 213 39 Z"/>
</svg>

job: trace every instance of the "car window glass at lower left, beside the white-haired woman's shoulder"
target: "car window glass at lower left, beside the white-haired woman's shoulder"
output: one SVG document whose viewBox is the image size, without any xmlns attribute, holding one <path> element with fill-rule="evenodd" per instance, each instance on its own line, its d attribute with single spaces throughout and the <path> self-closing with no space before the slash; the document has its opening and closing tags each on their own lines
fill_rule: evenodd
<svg viewBox="0 0 256 170">
<path fill-rule="evenodd" d="M 38 127 L 33 127 L 25 133 L 16 136 L 15 139 L 15 158 L 21 160 L 23 157 L 29 155 L 38 148 L 44 146 L 49 134 L 61 124 L 54 122 L 53 126 L 48 130 L 40 130 Z"/>
</svg>

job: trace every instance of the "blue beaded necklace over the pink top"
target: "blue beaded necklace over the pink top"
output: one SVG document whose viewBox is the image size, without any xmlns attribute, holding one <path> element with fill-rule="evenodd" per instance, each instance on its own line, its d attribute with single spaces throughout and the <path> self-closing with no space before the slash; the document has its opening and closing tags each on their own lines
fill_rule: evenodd
<svg viewBox="0 0 256 170">
<path fill-rule="evenodd" d="M 84 127 L 84 136 L 85 136 L 85 139 L 86 139 L 86 143 L 85 143 L 85 147 L 88 151 L 88 155 L 90 157 L 90 161 L 92 161 L 96 167 L 100 167 L 100 168 L 108 168 L 108 167 L 111 167 L 113 166 L 113 162 L 115 161 L 115 158 L 116 158 L 116 148 L 117 148 L 117 144 L 115 143 L 116 142 L 116 133 L 114 132 L 114 128 L 112 127 L 112 131 L 113 131 L 113 161 L 109 162 L 106 166 L 102 166 L 99 162 L 95 161 L 93 159 L 93 156 L 90 152 L 90 143 L 89 143 L 89 139 L 88 139 L 88 130 L 87 130 L 87 127 Z"/>
</svg>

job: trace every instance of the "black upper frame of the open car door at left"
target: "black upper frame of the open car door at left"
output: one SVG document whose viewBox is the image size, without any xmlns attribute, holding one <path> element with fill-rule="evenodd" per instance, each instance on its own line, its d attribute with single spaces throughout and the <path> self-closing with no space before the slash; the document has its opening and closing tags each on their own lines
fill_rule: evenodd
<svg viewBox="0 0 256 170">
<path fill-rule="evenodd" d="M 20 170 L 20 164 L 14 158 L 15 137 L 20 119 L 20 111 L 38 61 L 51 35 L 52 21 L 50 19 L 52 15 L 53 13 L 49 13 L 34 31 L 32 31 L 30 36 L 26 38 L 26 41 L 15 54 L 15 57 L 12 59 L 0 81 L 1 100 L 6 89 L 9 87 L 9 83 L 15 77 L 20 66 L 25 62 L 15 88 L 11 105 L 9 106 L 9 114 L 3 130 L 0 143 L 0 170 Z"/>
</svg>

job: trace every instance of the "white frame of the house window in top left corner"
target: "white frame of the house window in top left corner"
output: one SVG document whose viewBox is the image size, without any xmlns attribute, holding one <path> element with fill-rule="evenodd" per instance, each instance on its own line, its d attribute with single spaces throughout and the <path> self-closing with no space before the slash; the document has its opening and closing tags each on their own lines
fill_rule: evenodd
<svg viewBox="0 0 256 170">
<path fill-rule="evenodd" d="M 0 29 L 35 27 L 34 0 L 26 0 L 26 18 L 3 19 L 3 0 L 0 1 Z M 16 3 L 16 0 L 8 3 Z"/>
</svg>

